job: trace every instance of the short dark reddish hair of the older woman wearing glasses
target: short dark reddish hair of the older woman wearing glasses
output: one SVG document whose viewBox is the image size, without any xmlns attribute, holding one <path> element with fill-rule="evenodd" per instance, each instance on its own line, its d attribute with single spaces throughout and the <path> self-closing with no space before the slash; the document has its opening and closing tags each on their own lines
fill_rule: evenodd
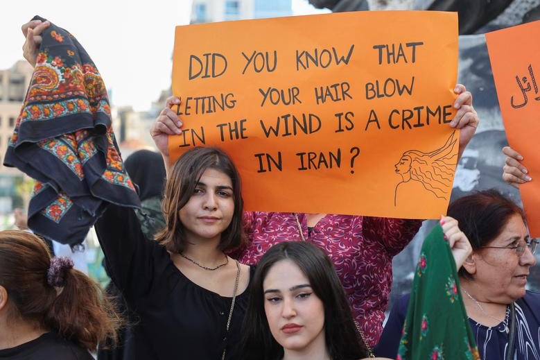
<svg viewBox="0 0 540 360">
<path fill-rule="evenodd" d="M 514 215 L 519 215 L 525 223 L 523 209 L 496 189 L 463 196 L 448 207 L 448 216 L 458 220 L 460 229 L 469 238 L 473 251 L 487 246 L 498 237 Z M 460 275 L 470 278 L 463 267 L 460 268 Z"/>
</svg>

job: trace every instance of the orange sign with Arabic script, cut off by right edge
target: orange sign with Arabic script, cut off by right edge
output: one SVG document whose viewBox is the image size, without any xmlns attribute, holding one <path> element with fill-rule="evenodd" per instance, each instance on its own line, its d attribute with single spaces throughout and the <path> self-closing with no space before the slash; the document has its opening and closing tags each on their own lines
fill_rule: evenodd
<svg viewBox="0 0 540 360">
<path fill-rule="evenodd" d="M 540 49 L 536 45 L 539 31 L 537 21 L 486 34 L 508 143 L 523 155 L 523 164 L 533 178 L 535 174 L 540 178 Z M 530 235 L 540 237 L 540 182 L 520 185 L 519 191 Z"/>
</svg>

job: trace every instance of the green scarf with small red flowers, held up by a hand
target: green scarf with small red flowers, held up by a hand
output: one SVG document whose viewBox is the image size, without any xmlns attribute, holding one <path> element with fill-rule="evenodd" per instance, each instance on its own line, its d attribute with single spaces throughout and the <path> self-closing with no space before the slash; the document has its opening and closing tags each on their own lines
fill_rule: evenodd
<svg viewBox="0 0 540 360">
<path fill-rule="evenodd" d="M 398 360 L 478 360 L 458 271 L 440 225 L 422 245 L 407 310 Z"/>
</svg>

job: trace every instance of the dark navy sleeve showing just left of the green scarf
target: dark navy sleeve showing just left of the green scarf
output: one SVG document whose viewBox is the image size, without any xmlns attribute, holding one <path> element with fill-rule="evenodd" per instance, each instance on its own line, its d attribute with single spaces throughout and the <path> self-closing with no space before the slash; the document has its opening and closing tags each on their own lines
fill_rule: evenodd
<svg viewBox="0 0 540 360">
<path fill-rule="evenodd" d="M 401 295 L 392 307 L 388 320 L 386 320 L 383 334 L 374 348 L 377 357 L 396 359 L 399 341 L 401 341 L 403 323 L 407 316 L 409 296 L 410 294 Z"/>
</svg>

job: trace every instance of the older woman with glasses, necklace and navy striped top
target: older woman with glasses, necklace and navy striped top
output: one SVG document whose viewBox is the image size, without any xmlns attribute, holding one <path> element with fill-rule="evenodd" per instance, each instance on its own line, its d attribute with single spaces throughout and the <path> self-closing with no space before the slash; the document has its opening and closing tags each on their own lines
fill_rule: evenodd
<svg viewBox="0 0 540 360">
<path fill-rule="evenodd" d="M 540 359 L 540 293 L 525 289 L 537 240 L 529 238 L 523 210 L 491 189 L 458 198 L 448 216 L 473 248 L 459 280 L 480 358 Z M 377 356 L 395 359 L 408 298 L 392 308 Z"/>
</svg>

